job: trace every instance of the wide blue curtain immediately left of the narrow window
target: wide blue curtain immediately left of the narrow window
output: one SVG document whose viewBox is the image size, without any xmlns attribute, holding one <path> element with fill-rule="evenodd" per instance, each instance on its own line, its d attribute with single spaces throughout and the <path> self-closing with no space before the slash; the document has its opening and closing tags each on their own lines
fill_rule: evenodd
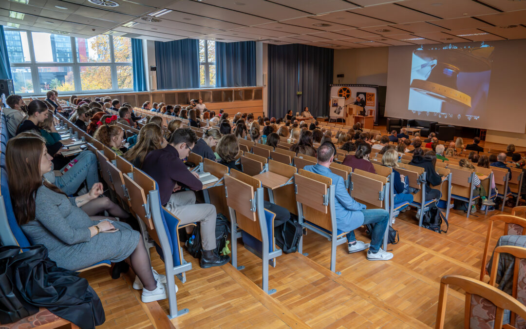
<svg viewBox="0 0 526 329">
<path fill-rule="evenodd" d="M 157 89 L 199 88 L 197 39 L 155 42 Z"/>
</svg>

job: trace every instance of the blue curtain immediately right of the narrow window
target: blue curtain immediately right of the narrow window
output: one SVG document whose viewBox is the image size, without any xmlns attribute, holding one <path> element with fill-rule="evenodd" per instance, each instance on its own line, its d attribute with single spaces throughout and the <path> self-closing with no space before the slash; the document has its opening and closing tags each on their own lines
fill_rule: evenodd
<svg viewBox="0 0 526 329">
<path fill-rule="evenodd" d="M 216 42 L 216 86 L 256 85 L 256 42 Z"/>
</svg>

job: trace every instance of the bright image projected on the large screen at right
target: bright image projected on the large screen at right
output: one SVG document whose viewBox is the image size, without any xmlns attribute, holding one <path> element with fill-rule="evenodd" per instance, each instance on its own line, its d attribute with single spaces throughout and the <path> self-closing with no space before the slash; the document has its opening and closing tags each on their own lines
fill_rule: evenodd
<svg viewBox="0 0 526 329">
<path fill-rule="evenodd" d="M 488 96 L 494 47 L 423 46 L 413 51 L 409 109 L 472 114 Z M 480 108 L 479 108 L 480 109 Z"/>
</svg>

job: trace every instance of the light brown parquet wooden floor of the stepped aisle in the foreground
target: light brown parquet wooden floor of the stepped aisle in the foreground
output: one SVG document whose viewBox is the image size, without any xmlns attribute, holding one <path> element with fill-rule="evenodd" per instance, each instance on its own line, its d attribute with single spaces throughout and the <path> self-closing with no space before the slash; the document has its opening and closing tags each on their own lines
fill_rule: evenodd
<svg viewBox="0 0 526 329">
<path fill-rule="evenodd" d="M 241 243 L 242 271 L 231 264 L 202 269 L 185 251 L 193 270 L 187 272 L 185 284 L 176 280 L 177 299 L 179 309 L 190 312 L 171 323 L 167 300 L 140 302 L 139 291 L 131 288 L 131 271 L 118 280 L 112 280 L 107 268 L 82 276 L 103 302 L 106 323 L 100 328 L 425 328 L 434 326 L 443 275 L 478 277 L 488 218 L 480 211 L 469 219 L 452 211 L 448 233 L 437 234 L 418 227 L 414 214 L 401 214 L 393 225 L 400 242 L 389 245 L 395 255 L 391 261 L 367 261 L 365 252 L 348 254 L 347 246 L 340 245 L 336 266 L 341 275 L 328 269 L 330 243 L 309 232 L 304 237 L 308 256 L 285 254 L 270 267 L 269 286 L 277 290 L 273 295 L 260 289 L 261 262 Z M 497 225 L 493 231 L 493 245 L 502 230 Z M 157 253 L 151 253 L 154 267 L 164 273 Z M 463 307 L 463 294 L 450 290 L 446 327 L 462 327 Z"/>
</svg>

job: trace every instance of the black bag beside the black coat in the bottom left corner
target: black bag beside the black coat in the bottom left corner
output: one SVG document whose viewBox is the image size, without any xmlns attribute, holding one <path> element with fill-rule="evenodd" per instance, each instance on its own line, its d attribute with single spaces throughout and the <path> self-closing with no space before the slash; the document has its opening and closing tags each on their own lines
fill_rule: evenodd
<svg viewBox="0 0 526 329">
<path fill-rule="evenodd" d="M 0 323 L 21 320 L 38 312 L 38 307 L 28 304 L 16 290 L 11 280 L 11 262 L 20 253 L 18 246 L 0 247 Z"/>
</svg>

